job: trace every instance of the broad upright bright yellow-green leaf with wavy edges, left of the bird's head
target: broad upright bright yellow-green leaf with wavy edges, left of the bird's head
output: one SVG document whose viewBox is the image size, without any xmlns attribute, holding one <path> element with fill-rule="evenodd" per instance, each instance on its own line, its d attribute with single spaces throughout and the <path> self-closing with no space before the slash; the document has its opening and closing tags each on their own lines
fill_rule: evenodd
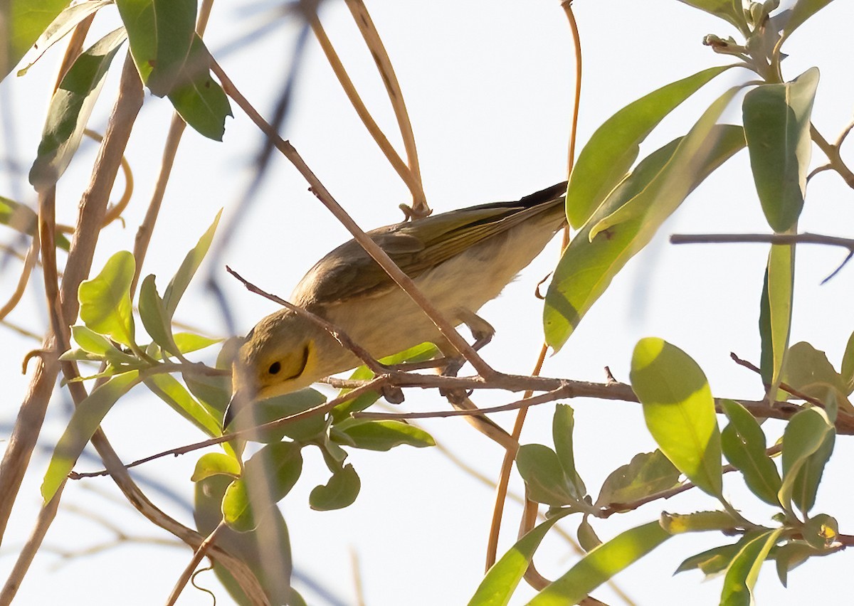
<svg viewBox="0 0 854 606">
<path fill-rule="evenodd" d="M 133 343 L 131 281 L 136 266 L 132 253 L 121 250 L 78 290 L 80 319 L 86 327 L 126 346 Z"/>
</svg>

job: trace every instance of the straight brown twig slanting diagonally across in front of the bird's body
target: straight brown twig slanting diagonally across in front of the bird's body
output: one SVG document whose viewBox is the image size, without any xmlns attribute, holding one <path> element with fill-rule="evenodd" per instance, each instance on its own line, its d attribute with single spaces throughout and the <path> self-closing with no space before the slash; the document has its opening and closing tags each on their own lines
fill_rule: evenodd
<svg viewBox="0 0 854 606">
<path fill-rule="evenodd" d="M 330 213 L 332 213 L 335 218 L 338 219 L 345 228 L 347 228 L 347 230 L 353 235 L 354 240 L 359 242 L 361 247 L 365 249 L 366 253 L 371 256 L 371 259 L 377 261 L 377 264 L 379 264 L 383 270 L 389 274 L 389 277 L 391 277 L 419 307 L 421 307 L 427 317 L 436 324 L 436 328 L 439 329 L 439 332 L 442 333 L 442 336 L 447 339 L 453 348 L 456 349 L 460 355 L 462 355 L 475 368 L 475 370 L 477 370 L 480 376 L 494 376 L 496 374 L 495 371 L 485 361 L 483 361 L 483 358 L 481 358 L 474 348 L 471 347 L 468 341 L 465 341 L 465 339 L 459 335 L 455 329 L 453 329 L 453 326 L 442 316 L 436 307 L 430 303 L 430 300 L 424 297 L 424 294 L 422 294 L 418 287 L 415 286 L 415 283 L 412 282 L 412 278 L 408 277 L 407 274 L 401 271 L 401 268 L 389 258 L 389 255 L 385 253 L 382 248 L 379 248 L 377 243 L 371 240 L 371 238 L 366 235 L 365 231 L 361 230 L 359 225 L 357 225 L 348 213 L 344 211 L 341 205 L 335 201 L 329 191 L 322 183 L 320 183 L 319 179 L 308 167 L 306 162 L 302 160 L 300 154 L 296 152 L 294 146 L 285 141 L 282 137 L 279 137 L 278 132 L 274 131 L 266 120 L 261 118 L 257 110 L 255 110 L 255 108 L 253 108 L 247 101 L 246 97 L 237 90 L 237 87 L 233 82 L 231 82 L 231 79 L 228 78 L 228 75 L 223 71 L 222 67 L 219 67 L 219 64 L 213 60 L 213 57 L 211 58 L 211 70 L 216 74 L 217 78 L 219 78 L 219 83 L 222 84 L 225 93 L 228 96 L 231 96 L 237 105 L 243 109 L 243 111 L 249 116 L 249 119 L 258 126 L 260 131 L 262 131 L 267 137 L 270 137 L 272 143 L 276 146 L 276 149 L 282 152 L 282 154 L 290 160 L 291 164 L 295 166 L 296 170 L 300 172 L 303 178 L 306 179 L 313 194 L 317 196 L 319 201 L 321 201 L 323 205 L 329 209 Z"/>
</svg>

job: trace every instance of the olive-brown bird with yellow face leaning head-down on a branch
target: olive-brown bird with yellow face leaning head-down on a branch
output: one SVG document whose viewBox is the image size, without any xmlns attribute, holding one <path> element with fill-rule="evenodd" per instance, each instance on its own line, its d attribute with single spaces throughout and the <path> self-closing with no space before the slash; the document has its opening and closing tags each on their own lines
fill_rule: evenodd
<svg viewBox="0 0 854 606">
<path fill-rule="evenodd" d="M 465 323 L 480 344 L 494 329 L 477 311 L 564 226 L 565 194 L 563 182 L 518 201 L 412 219 L 367 235 L 450 323 Z M 455 351 L 355 240 L 320 259 L 297 283 L 290 302 L 342 329 L 375 359 L 425 341 L 443 352 Z M 279 309 L 255 324 L 237 349 L 223 427 L 254 402 L 308 387 L 359 364 L 359 358 L 304 314 Z"/>
</svg>

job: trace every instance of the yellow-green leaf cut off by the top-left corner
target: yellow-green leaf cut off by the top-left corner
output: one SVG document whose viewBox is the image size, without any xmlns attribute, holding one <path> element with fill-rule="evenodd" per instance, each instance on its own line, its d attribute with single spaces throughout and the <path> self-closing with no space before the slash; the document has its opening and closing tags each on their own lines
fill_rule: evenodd
<svg viewBox="0 0 854 606">
<path fill-rule="evenodd" d="M 66 7 L 68 0 L 9 0 L 0 19 L 0 80 L 26 55 L 50 22 Z"/>
</svg>

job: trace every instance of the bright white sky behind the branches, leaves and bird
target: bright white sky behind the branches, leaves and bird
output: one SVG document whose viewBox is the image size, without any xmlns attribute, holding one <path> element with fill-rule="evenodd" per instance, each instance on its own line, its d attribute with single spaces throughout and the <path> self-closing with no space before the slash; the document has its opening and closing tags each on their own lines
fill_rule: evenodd
<svg viewBox="0 0 854 606">
<path fill-rule="evenodd" d="M 276 3 L 263 3 L 270 8 Z M 208 46 L 218 55 L 225 44 L 251 31 L 263 18 L 254 3 L 217 3 L 208 26 Z M 564 178 L 566 142 L 570 124 L 572 53 L 570 33 L 556 1 L 537 2 L 369 2 L 392 61 L 412 117 L 424 175 L 424 189 L 432 207 L 442 212 L 485 201 L 510 200 Z M 108 31 L 114 9 L 102 11 L 98 31 Z M 584 85 L 579 125 L 582 145 L 608 116 L 626 103 L 724 58 L 700 44 L 710 32 L 722 37 L 734 32 L 711 15 L 673 0 L 645 3 L 615 0 L 578 0 L 576 17 L 584 53 Z M 327 3 L 322 18 L 349 72 L 368 106 L 394 142 L 399 141 L 385 92 L 370 56 L 343 3 Z M 787 43 L 791 57 L 785 75 L 791 79 L 817 64 L 822 70 L 814 122 L 833 140 L 851 119 L 851 56 L 854 42 L 844 27 L 854 20 L 851 3 L 832 3 L 803 26 Z M 296 28 L 283 26 L 259 37 L 240 50 L 218 55 L 220 63 L 243 93 L 272 113 L 272 104 L 284 72 Z M 94 39 L 94 38 L 92 38 Z M 91 43 L 90 43 L 91 44 Z M 317 44 L 308 44 L 301 68 L 295 105 L 284 136 L 290 139 L 336 199 L 368 229 L 401 218 L 397 205 L 407 202 L 407 191 L 356 118 L 325 62 Z M 10 78 L 0 87 L 3 118 L 3 160 L 19 164 L 20 172 L 5 167 L 0 173 L 0 195 L 32 203 L 35 195 L 26 184 L 26 171 L 38 145 L 47 98 L 44 91 L 55 78 L 61 50 L 52 50 L 24 79 Z M 92 121 L 102 130 L 114 97 L 120 72 L 117 57 L 102 100 Z M 699 111 L 746 73 L 726 73 L 702 90 L 650 137 L 646 152 L 687 131 Z M 145 273 L 155 273 L 161 288 L 178 267 L 220 207 L 225 221 L 239 219 L 236 240 L 226 248 L 227 262 L 245 277 L 286 296 L 314 261 L 348 236 L 330 214 L 307 193 L 307 186 L 281 157 L 254 207 L 236 217 L 237 201 L 249 183 L 260 134 L 239 110 L 226 123 L 224 143 L 214 143 L 188 131 L 181 144 L 176 172 L 167 190 Z M 735 105 L 725 116 L 737 121 Z M 120 248 L 132 248 L 161 158 L 170 108 L 149 97 L 140 115 L 127 157 L 137 187 L 125 219 L 102 234 L 95 267 Z M 579 148 L 580 149 L 580 148 Z M 89 177 L 95 146 L 87 145 L 63 178 L 58 197 L 59 219 L 73 223 L 79 192 Z M 814 164 L 822 163 L 820 152 Z M 849 154 L 850 156 L 850 154 Z M 851 191 L 829 172 L 810 183 L 809 199 L 800 224 L 802 231 L 851 236 L 842 226 L 854 221 Z M 728 360 L 728 353 L 758 360 L 757 313 L 766 249 L 762 245 L 672 247 L 670 233 L 768 232 L 750 180 L 746 153 L 742 152 L 710 178 L 664 225 L 656 241 L 613 283 L 602 300 L 584 318 L 564 350 L 547 361 L 543 374 L 603 381 L 603 367 L 611 367 L 618 380 L 628 379 L 629 359 L 642 336 L 661 336 L 690 353 L 709 376 L 716 395 L 757 398 L 757 377 Z M 222 229 L 220 228 L 220 232 Z M 3 242 L 10 242 L 3 231 Z M 499 300 L 483 308 L 497 335 L 484 351 L 490 364 L 513 373 L 529 372 L 541 343 L 541 302 L 532 293 L 535 284 L 557 258 L 557 242 L 506 288 Z M 797 299 L 792 342 L 810 341 L 839 364 L 851 331 L 848 268 L 825 286 L 818 283 L 833 271 L 844 253 L 835 249 L 801 248 L 798 251 Z M 221 266 L 207 267 L 225 285 L 237 329 L 245 332 L 273 309 L 269 301 L 248 294 L 225 275 Z M 15 283 L 17 262 L 3 267 L 3 300 Z M 202 271 L 202 273 L 205 270 Z M 42 294 L 38 286 L 26 294 L 10 321 L 41 332 Z M 225 327 L 202 280 L 190 287 L 178 319 L 218 335 Z M 7 397 L 0 410 L 3 434 L 14 422 L 17 406 L 29 381 L 20 376 L 20 360 L 38 347 L 35 341 L 2 330 L 0 363 Z M 465 370 L 464 370 L 465 372 Z M 478 396 L 482 405 L 508 401 Z M 588 490 L 598 493 L 600 482 L 617 466 L 641 451 L 654 448 L 637 405 L 594 400 L 570 402 L 576 410 L 576 463 Z M 47 449 L 67 422 L 67 401 L 57 397 L 45 424 L 44 451 L 32 464 L 9 524 L 0 576 L 5 579 L 17 548 L 26 539 L 38 511 L 38 486 L 47 463 Z M 407 393 L 405 410 L 434 410 L 447 406 L 436 394 Z M 524 443 L 551 444 L 553 406 L 529 413 Z M 506 427 L 512 415 L 496 417 Z M 502 452 L 459 419 L 424 422 L 443 446 L 466 464 L 490 478 L 497 477 Z M 123 399 L 111 411 L 106 432 L 120 456 L 130 461 L 200 439 L 187 423 L 150 393 Z M 781 424 L 765 425 L 769 440 L 781 433 Z M 828 466 L 817 511 L 841 516 L 851 508 L 846 486 L 849 439 L 837 443 Z M 295 566 L 299 572 L 325 586 L 340 599 L 355 603 L 352 558 L 358 557 L 366 603 L 371 606 L 460 604 L 471 597 L 483 573 L 492 489 L 449 462 L 437 449 L 401 447 L 391 453 L 352 452 L 362 480 L 360 497 L 346 510 L 315 512 L 308 508 L 308 492 L 328 477 L 319 452 L 308 449 L 301 480 L 284 499 L 290 524 Z M 140 481 L 154 480 L 177 500 L 145 488 L 151 498 L 184 523 L 191 525 L 189 477 L 195 456 L 161 459 L 139 471 Z M 80 469 L 100 467 L 89 459 Z M 521 491 L 514 477 L 513 490 Z M 831 493 L 830 487 L 836 487 Z M 770 511 L 755 508 L 737 477 L 728 477 L 725 490 L 737 508 L 758 522 Z M 151 604 L 165 601 L 190 551 L 161 545 L 122 545 L 93 556 L 64 562 L 47 553 L 80 551 L 113 538 L 102 524 L 86 515 L 100 516 L 134 539 L 171 539 L 151 527 L 135 510 L 114 502 L 117 490 L 108 480 L 72 482 L 64 508 L 20 589 L 19 603 Z M 701 495 L 687 494 L 667 503 L 646 505 L 625 516 L 594 521 L 602 539 L 625 528 L 655 519 L 661 510 L 689 512 L 713 508 Z M 506 510 L 503 549 L 512 544 L 518 525 L 518 507 Z M 575 518 L 564 527 L 574 533 Z M 851 521 L 840 518 L 842 532 L 851 533 Z M 617 577 L 617 584 L 641 604 L 717 603 L 721 579 L 701 583 L 697 572 L 671 577 L 684 556 L 722 543 L 720 535 L 677 537 L 642 562 Z M 575 561 L 561 539 L 548 539 L 536 558 L 541 573 L 563 573 Z M 822 562 L 810 562 L 789 577 L 783 590 L 773 566 L 763 568 L 758 583 L 761 603 L 839 603 L 843 570 L 850 568 L 845 553 Z M 821 574 L 822 582 L 816 582 Z M 212 574 L 202 574 L 203 586 L 218 586 Z M 296 586 L 309 603 L 327 603 L 305 584 Z M 219 599 L 226 600 L 224 592 Z M 530 591 L 520 589 L 514 603 L 523 603 Z M 623 603 L 610 589 L 594 593 L 607 603 Z M 181 604 L 210 603 L 192 588 Z M 220 601 L 219 603 L 223 603 Z"/>
</svg>

